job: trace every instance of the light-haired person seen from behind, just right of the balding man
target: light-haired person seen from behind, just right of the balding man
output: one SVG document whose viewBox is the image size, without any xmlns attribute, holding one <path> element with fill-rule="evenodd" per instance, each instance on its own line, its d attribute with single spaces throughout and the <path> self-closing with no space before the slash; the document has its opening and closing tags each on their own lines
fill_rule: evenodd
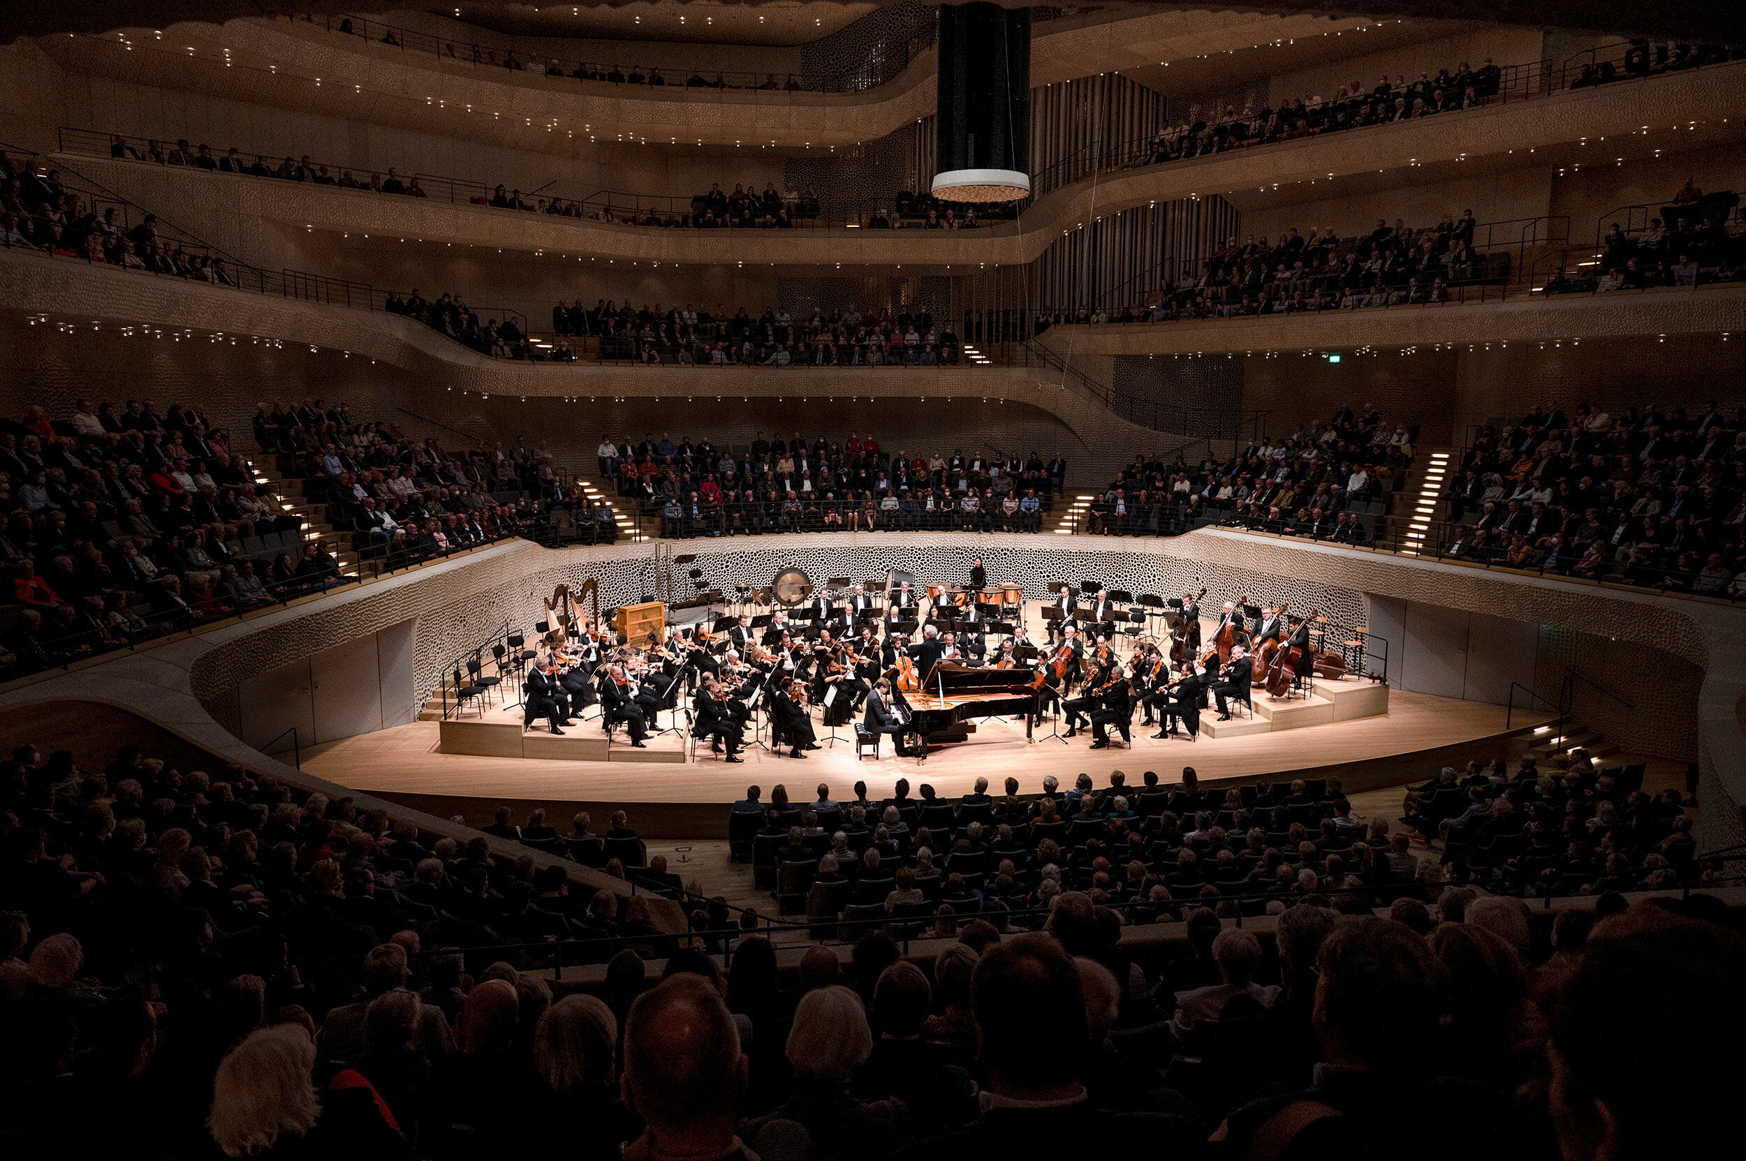
<svg viewBox="0 0 1746 1161">
<path fill-rule="evenodd" d="M 866 1007 L 852 990 L 829 985 L 800 997 L 786 1055 L 794 1068 L 787 1102 L 740 1124 L 740 1138 L 754 1151 L 760 1133 L 784 1121 L 807 1130 L 817 1156 L 842 1161 L 875 1161 L 913 1140 L 903 1100 L 849 1093 L 850 1077 L 873 1055 Z"/>
</svg>

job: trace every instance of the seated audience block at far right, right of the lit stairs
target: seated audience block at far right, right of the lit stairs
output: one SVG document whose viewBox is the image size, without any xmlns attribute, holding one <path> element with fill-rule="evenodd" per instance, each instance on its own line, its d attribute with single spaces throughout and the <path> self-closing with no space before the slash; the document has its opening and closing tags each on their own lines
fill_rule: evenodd
<svg viewBox="0 0 1746 1161">
<path fill-rule="evenodd" d="M 1440 550 L 1711 597 L 1746 594 L 1746 410 L 1542 403 L 1451 473 Z"/>
</svg>

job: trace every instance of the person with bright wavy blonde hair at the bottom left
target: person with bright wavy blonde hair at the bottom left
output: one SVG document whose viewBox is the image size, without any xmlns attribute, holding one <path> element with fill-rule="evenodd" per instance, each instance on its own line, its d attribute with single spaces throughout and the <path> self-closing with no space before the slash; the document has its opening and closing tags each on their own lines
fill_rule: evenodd
<svg viewBox="0 0 1746 1161">
<path fill-rule="evenodd" d="M 218 1061 L 206 1128 L 232 1158 L 314 1161 L 337 1152 L 409 1156 L 391 1114 L 349 1068 L 318 1098 L 316 1044 L 297 1023 L 257 1028 Z"/>
</svg>

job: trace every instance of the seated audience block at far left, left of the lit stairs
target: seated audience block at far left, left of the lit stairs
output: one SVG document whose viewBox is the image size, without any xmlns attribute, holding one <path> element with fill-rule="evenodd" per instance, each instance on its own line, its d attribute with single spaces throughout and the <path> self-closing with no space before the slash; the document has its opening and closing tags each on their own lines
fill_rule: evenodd
<svg viewBox="0 0 1746 1161">
<path fill-rule="evenodd" d="M 0 422 L 0 498 L 14 674 L 349 580 L 229 433 L 180 403 L 30 407 Z"/>
</svg>

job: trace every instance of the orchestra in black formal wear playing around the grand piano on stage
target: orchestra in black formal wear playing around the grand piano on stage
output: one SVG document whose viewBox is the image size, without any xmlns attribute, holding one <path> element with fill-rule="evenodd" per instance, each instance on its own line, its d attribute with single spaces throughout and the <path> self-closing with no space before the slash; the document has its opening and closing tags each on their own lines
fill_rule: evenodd
<svg viewBox="0 0 1746 1161">
<path fill-rule="evenodd" d="M 768 613 L 742 606 L 641 642 L 571 618 L 546 634 L 524 674 L 524 728 L 545 723 L 562 735 L 599 705 L 597 721 L 608 733 L 622 728 L 634 747 L 688 730 L 698 747 L 739 763 L 754 742 L 803 759 L 819 749 L 819 730 L 836 739 L 854 726 L 925 761 L 931 745 L 964 740 L 978 716 L 1021 721 L 1027 739 L 1058 718 L 1065 730 L 1051 739 L 1090 732 L 1091 749 L 1109 749 L 1131 745 L 1137 711 L 1142 726 L 1158 728 L 1152 739 L 1198 740 L 1203 709 L 1229 721 L 1257 686 L 1292 697 L 1310 676 L 1343 669 L 1318 649 L 1325 618 L 1287 616 L 1285 602 L 1222 601 L 1203 637 L 1205 588 L 1168 602 L 1147 597 L 1152 609 L 1144 609 L 1128 594 L 1058 583 L 1042 602 L 1048 641 L 1039 646 L 1016 585 L 990 588 L 981 559 L 969 581 L 807 585 L 801 599 L 772 597 Z M 1165 618 L 1161 637 L 1144 630 L 1149 615 Z M 672 725 L 660 725 L 663 712 Z"/>
</svg>

